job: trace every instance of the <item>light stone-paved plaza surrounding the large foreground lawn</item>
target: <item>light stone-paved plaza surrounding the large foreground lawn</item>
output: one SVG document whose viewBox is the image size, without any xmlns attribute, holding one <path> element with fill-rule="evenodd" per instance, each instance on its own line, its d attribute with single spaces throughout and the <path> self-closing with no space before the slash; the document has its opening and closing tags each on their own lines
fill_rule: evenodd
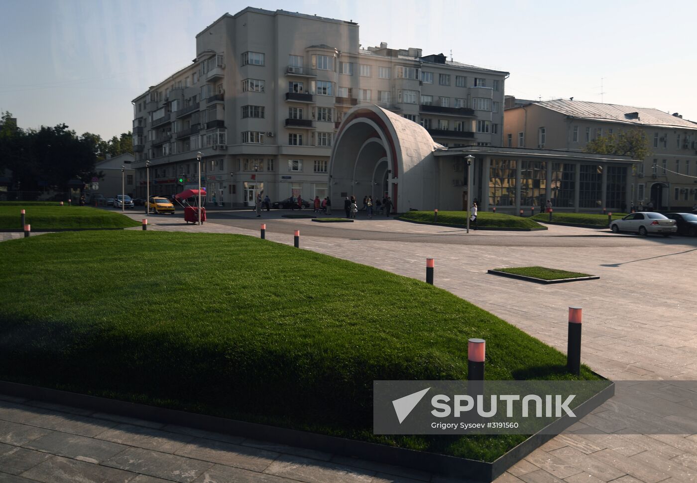
<svg viewBox="0 0 697 483">
<path fill-rule="evenodd" d="M 436 286 L 563 352 L 567 307 L 582 306 L 583 362 L 613 380 L 697 379 L 697 239 L 618 236 L 561 226 L 546 232 L 481 230 L 466 235 L 457 228 L 388 218 L 327 226 L 271 214 L 273 218 L 261 222 L 273 241 L 292 244 L 293 230 L 300 229 L 302 248 L 419 279 L 424 279 L 425 258 L 435 258 Z M 201 227 L 185 225 L 181 215 L 148 216 L 148 221 L 148 230 L 256 237 L 260 223 L 250 211 L 211 211 L 210 221 Z M 600 279 L 537 285 L 486 273 L 526 265 Z M 608 423 L 611 418 L 603 417 L 606 410 L 599 408 L 581 424 L 615 431 Z M 577 428 L 582 433 L 583 426 Z M 697 431 L 691 424 L 685 427 L 682 435 L 557 436 L 496 481 L 697 481 L 697 435 L 691 436 Z M 404 468 L 31 401 L 0 403 L 0 428 L 0 482 L 449 481 Z"/>
</svg>

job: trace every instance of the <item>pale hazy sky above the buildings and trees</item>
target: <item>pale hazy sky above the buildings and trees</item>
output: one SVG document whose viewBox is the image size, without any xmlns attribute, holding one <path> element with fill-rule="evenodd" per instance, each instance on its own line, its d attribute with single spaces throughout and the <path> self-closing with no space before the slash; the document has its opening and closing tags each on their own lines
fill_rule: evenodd
<svg viewBox="0 0 697 483">
<path fill-rule="evenodd" d="M 195 36 L 246 1 L 0 0 L 0 111 L 24 128 L 130 130 L 130 101 L 190 64 Z M 656 107 L 697 121 L 695 1 L 257 0 L 360 25 L 363 47 L 418 47 L 510 72 L 519 98 Z M 601 89 L 602 85 L 602 89 Z M 604 94 L 601 95 L 601 92 Z"/>
</svg>

